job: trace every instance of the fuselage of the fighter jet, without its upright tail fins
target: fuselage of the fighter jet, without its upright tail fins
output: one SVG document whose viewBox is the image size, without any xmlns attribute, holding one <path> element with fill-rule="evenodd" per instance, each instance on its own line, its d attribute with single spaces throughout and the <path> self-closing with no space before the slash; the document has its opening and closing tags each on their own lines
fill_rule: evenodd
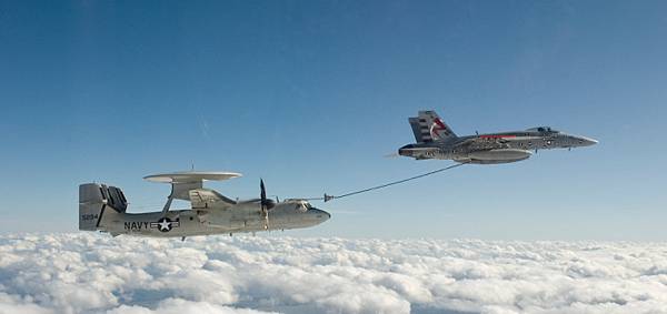
<svg viewBox="0 0 667 314">
<path fill-rule="evenodd" d="M 508 163 L 530 158 L 532 151 L 588 146 L 596 140 L 549 128 L 526 131 L 452 136 L 441 141 L 408 144 L 399 154 L 418 160 L 440 159 L 466 163 Z"/>
</svg>

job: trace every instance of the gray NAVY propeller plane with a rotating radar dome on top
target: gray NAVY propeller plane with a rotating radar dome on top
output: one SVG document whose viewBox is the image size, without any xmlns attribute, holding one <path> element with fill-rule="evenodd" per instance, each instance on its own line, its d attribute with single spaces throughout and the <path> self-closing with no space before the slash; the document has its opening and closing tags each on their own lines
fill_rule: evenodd
<svg viewBox="0 0 667 314">
<path fill-rule="evenodd" d="M 267 199 L 260 180 L 260 197 L 233 201 L 203 188 L 203 181 L 222 181 L 240 176 L 231 172 L 176 172 L 143 178 L 171 184 L 171 194 L 161 212 L 127 213 L 128 201 L 122 191 L 106 184 L 79 185 L 79 230 L 143 236 L 186 236 L 232 234 L 309 227 L 331 215 L 305 200 L 279 202 Z M 190 201 L 189 210 L 170 210 L 173 200 Z"/>
</svg>

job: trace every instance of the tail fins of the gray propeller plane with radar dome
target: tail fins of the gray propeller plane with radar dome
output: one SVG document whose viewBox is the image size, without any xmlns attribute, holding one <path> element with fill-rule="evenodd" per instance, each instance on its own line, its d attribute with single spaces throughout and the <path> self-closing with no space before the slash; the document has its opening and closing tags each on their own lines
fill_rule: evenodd
<svg viewBox="0 0 667 314">
<path fill-rule="evenodd" d="M 79 230 L 96 231 L 106 210 L 125 213 L 128 201 L 116 186 L 86 183 L 79 185 Z"/>
</svg>

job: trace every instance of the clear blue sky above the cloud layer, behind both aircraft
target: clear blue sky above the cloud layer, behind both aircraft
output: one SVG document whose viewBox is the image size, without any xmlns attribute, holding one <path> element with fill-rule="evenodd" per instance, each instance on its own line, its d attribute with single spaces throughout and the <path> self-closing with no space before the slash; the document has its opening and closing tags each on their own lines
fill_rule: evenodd
<svg viewBox="0 0 667 314">
<path fill-rule="evenodd" d="M 73 231 L 78 184 L 160 209 L 156 172 L 229 196 L 340 194 L 449 164 L 386 159 L 435 109 L 459 134 L 593 148 L 315 205 L 292 235 L 667 237 L 665 1 L 0 1 L 0 230 Z M 151 205 L 153 207 L 151 207 Z M 186 206 L 187 203 L 180 203 Z"/>
</svg>

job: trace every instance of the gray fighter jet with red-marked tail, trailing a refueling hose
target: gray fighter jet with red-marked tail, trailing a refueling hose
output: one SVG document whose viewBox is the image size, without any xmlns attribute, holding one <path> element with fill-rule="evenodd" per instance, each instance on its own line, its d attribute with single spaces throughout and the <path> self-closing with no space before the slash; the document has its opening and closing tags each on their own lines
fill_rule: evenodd
<svg viewBox="0 0 667 314">
<path fill-rule="evenodd" d="M 532 151 L 590 146 L 598 141 L 571 135 L 549 126 L 489 134 L 457 136 L 435 111 L 409 118 L 417 143 L 398 150 L 416 160 L 441 159 L 460 163 L 496 164 L 526 160 Z"/>
</svg>

